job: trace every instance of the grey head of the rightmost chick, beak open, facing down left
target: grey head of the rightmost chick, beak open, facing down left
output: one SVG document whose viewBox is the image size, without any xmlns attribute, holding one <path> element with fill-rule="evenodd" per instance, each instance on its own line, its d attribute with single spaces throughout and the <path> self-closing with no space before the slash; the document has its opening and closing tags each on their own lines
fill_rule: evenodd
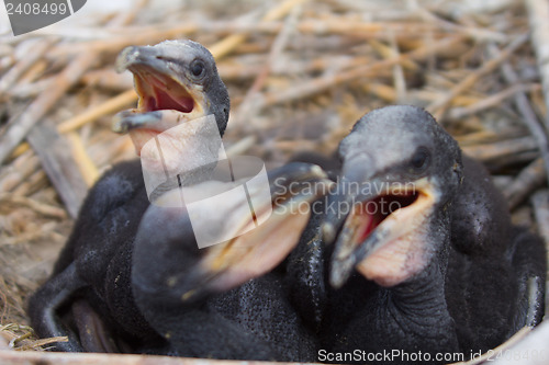
<svg viewBox="0 0 549 365">
<path fill-rule="evenodd" d="M 360 119 L 339 153 L 341 181 L 330 201 L 339 208 L 323 227 L 330 240 L 343 225 L 332 284 L 341 286 L 357 266 L 382 286 L 397 285 L 440 251 L 444 237 L 429 235 L 449 219 L 444 207 L 461 183 L 460 149 L 424 111 L 395 106 Z"/>
</svg>

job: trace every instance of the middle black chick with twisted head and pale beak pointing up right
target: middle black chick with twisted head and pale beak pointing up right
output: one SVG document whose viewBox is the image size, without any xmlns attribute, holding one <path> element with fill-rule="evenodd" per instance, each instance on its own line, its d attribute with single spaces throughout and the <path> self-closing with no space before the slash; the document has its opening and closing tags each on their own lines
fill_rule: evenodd
<svg viewBox="0 0 549 365">
<path fill-rule="evenodd" d="M 309 220 L 304 207 L 325 191 L 318 186 L 327 180 L 318 167 L 305 163 L 273 170 L 269 180 L 272 201 L 267 203 L 272 204 L 272 215 L 243 236 L 201 250 L 194 238 L 200 227 L 191 225 L 184 207 L 154 205 L 147 209 L 135 239 L 132 287 L 141 312 L 165 339 L 152 352 L 314 361 L 316 339 L 288 300 L 281 262 Z M 178 196 L 172 191 L 161 199 L 173 202 Z M 246 227 L 249 216 L 238 216 L 235 206 L 247 205 L 246 201 L 225 201 L 215 213 L 227 217 L 226 221 L 213 219 L 204 225 L 211 232 Z M 206 208 L 194 214 L 213 218 Z M 255 205 L 254 210 L 260 215 L 269 207 Z"/>
</svg>

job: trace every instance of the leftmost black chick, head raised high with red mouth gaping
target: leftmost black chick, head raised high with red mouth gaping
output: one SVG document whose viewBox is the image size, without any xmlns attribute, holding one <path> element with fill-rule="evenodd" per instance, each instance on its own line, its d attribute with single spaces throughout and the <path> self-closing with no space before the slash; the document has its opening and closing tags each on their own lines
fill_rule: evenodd
<svg viewBox="0 0 549 365">
<path fill-rule="evenodd" d="M 130 132 L 137 152 L 148 138 L 209 114 L 223 135 L 228 93 L 202 45 L 167 41 L 128 47 L 117 62 L 134 72 L 139 102 L 114 129 Z M 164 117 L 167 112 L 172 118 Z M 114 166 L 88 193 L 52 277 L 29 301 L 40 337 L 68 335 L 56 350 L 133 351 L 142 340 L 161 340 L 135 307 L 130 284 L 134 237 L 148 206 L 138 160 Z"/>
</svg>

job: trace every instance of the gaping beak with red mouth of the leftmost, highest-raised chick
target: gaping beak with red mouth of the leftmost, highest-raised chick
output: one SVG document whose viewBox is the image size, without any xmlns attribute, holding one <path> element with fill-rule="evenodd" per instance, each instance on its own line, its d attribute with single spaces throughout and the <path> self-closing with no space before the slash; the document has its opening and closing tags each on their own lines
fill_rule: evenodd
<svg viewBox="0 0 549 365">
<path fill-rule="evenodd" d="M 208 99 L 200 84 L 177 75 L 153 47 L 126 47 L 116 69 L 134 75 L 137 107 L 115 115 L 112 129 L 130 133 L 137 155 L 145 142 L 186 121 L 206 115 Z"/>
</svg>

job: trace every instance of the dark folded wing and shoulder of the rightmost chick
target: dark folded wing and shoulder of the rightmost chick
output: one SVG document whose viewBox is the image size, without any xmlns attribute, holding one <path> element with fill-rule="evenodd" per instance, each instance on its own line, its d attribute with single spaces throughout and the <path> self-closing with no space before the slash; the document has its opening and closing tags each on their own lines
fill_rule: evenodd
<svg viewBox="0 0 549 365">
<path fill-rule="evenodd" d="M 446 296 L 460 349 L 468 354 L 493 349 L 541 321 L 546 249 L 539 237 L 511 224 L 505 198 L 484 167 L 472 159 L 463 164 L 461 194 L 452 207 Z M 528 304 L 533 277 L 538 296 Z M 529 321 L 528 310 L 535 311 Z"/>
</svg>

